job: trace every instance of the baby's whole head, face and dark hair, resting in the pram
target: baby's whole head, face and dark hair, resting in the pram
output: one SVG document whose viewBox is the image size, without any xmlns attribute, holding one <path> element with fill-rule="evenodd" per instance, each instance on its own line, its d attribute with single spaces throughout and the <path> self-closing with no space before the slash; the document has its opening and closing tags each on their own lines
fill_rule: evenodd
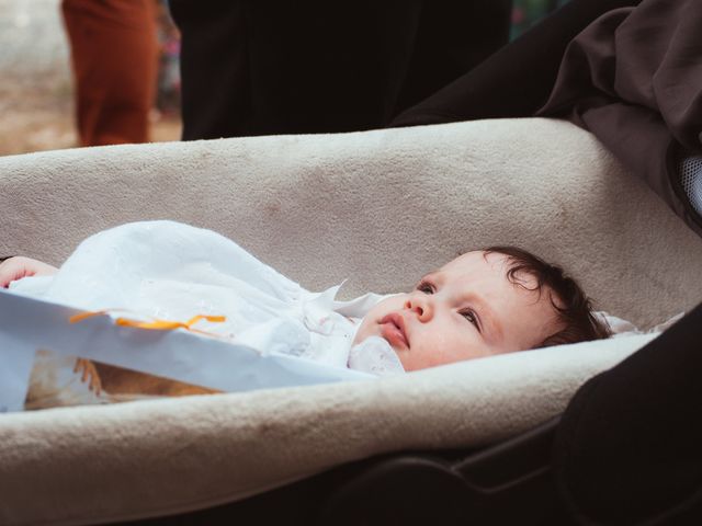
<svg viewBox="0 0 702 526">
<path fill-rule="evenodd" d="M 384 338 L 406 370 L 609 336 L 579 285 L 514 247 L 467 252 L 377 304 L 355 341 Z"/>
</svg>

